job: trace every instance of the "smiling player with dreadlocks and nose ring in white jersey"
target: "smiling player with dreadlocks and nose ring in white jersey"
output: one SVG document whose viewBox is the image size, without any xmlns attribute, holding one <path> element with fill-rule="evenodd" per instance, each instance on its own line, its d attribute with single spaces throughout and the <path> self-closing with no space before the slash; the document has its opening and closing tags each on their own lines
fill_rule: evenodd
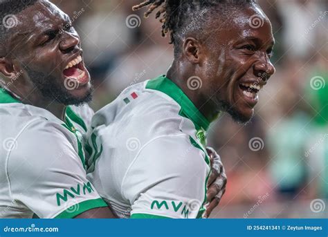
<svg viewBox="0 0 328 237">
<path fill-rule="evenodd" d="M 255 0 L 149 0 L 133 9 L 143 7 L 170 34 L 174 61 L 95 113 L 89 178 L 118 216 L 199 218 L 211 201 L 206 131 L 221 112 L 253 117 L 275 72 L 271 23 Z"/>
</svg>

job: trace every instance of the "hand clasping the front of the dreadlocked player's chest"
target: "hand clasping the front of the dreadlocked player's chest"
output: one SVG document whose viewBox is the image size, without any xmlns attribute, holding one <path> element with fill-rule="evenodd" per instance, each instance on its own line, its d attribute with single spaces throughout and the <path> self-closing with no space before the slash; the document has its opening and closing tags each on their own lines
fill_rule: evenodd
<svg viewBox="0 0 328 237">
<path fill-rule="evenodd" d="M 213 209 L 219 205 L 222 196 L 224 196 L 224 193 L 226 192 L 227 176 L 226 171 L 224 170 L 224 165 L 222 164 L 221 158 L 217 152 L 210 147 L 206 148 L 206 151 L 208 151 L 208 155 L 210 156 L 212 169 L 212 173 L 210 178 L 208 178 L 207 183 L 208 192 L 206 197 L 208 204 L 204 215 L 205 218 L 208 218 Z"/>
</svg>

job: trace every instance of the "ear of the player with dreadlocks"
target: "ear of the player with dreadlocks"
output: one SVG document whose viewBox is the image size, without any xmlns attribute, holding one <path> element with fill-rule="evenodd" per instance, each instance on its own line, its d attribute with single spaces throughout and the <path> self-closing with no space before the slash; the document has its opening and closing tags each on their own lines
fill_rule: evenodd
<svg viewBox="0 0 328 237">
<path fill-rule="evenodd" d="M 197 39 L 188 37 L 183 41 L 183 55 L 188 58 L 192 64 L 201 63 L 202 47 Z"/>
</svg>

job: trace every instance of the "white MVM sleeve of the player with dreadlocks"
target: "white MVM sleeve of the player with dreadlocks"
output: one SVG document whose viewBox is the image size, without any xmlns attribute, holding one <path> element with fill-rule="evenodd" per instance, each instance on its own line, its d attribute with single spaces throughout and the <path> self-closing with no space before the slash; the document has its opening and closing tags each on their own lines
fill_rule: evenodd
<svg viewBox="0 0 328 237">
<path fill-rule="evenodd" d="M 206 195 L 205 153 L 185 135 L 158 138 L 127 171 L 122 193 L 131 218 L 197 218 Z"/>
</svg>

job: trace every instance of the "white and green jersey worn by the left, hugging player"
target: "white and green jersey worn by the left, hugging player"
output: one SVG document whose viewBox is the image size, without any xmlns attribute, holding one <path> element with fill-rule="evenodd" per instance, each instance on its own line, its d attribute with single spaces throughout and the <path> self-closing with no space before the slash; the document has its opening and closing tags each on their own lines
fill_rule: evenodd
<svg viewBox="0 0 328 237">
<path fill-rule="evenodd" d="M 21 104 L 0 90 L 0 218 L 73 218 L 106 207 L 86 179 L 82 133 L 87 124 L 66 110 L 66 122 Z"/>
</svg>

